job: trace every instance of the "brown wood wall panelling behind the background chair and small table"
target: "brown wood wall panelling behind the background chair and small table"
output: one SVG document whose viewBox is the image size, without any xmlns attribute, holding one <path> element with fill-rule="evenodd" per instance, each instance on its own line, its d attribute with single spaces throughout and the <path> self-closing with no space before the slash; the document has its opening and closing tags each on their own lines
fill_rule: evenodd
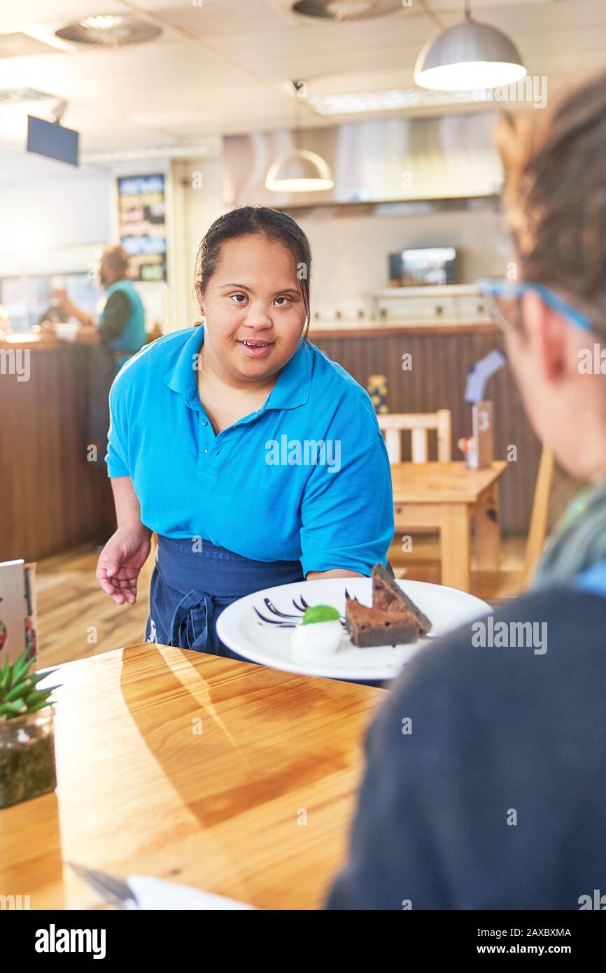
<svg viewBox="0 0 606 973">
<path fill-rule="evenodd" d="M 366 388 L 370 375 L 385 375 L 389 409 L 392 413 L 431 413 L 449 409 L 452 414 L 452 458 L 462 458 L 457 449 L 461 436 L 471 435 L 471 406 L 464 401 L 467 373 L 493 348 L 503 347 L 499 331 L 491 328 L 458 329 L 455 333 L 423 329 L 399 330 L 394 334 L 365 333 L 339 337 L 310 335 L 329 358 L 339 362 Z M 402 355 L 412 356 L 410 372 L 402 370 Z M 504 534 L 525 533 L 541 448 L 523 414 L 519 395 L 506 365 L 490 378 L 486 397 L 494 402 L 495 459 L 506 459 L 507 448 L 517 447 L 517 461 L 510 463 L 501 483 L 501 514 Z M 405 459 L 410 459 L 410 440 Z M 430 436 L 430 459 L 436 458 L 435 438 Z"/>
</svg>

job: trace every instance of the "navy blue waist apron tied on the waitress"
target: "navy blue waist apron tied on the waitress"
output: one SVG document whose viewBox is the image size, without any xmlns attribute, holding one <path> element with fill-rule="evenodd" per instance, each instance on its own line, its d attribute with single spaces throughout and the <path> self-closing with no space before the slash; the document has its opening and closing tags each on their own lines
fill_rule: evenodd
<svg viewBox="0 0 606 973">
<path fill-rule="evenodd" d="M 300 560 L 251 560 L 191 537 L 158 538 L 147 642 L 241 660 L 217 635 L 217 619 L 244 595 L 304 581 Z M 246 661 L 246 660 L 245 660 Z"/>
</svg>

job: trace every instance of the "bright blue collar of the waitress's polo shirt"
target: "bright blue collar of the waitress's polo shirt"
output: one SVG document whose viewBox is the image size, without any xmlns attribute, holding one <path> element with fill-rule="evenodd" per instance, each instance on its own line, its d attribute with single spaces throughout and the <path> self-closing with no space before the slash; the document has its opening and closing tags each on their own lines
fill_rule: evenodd
<svg viewBox="0 0 606 973">
<path fill-rule="evenodd" d="M 196 390 L 194 355 L 199 352 L 203 341 L 204 326 L 199 325 L 183 345 L 175 365 L 163 377 L 168 388 L 188 399 L 191 399 Z M 311 361 L 311 348 L 303 338 L 293 357 L 280 372 L 262 412 L 267 409 L 296 409 L 305 405 L 311 387 Z"/>
</svg>

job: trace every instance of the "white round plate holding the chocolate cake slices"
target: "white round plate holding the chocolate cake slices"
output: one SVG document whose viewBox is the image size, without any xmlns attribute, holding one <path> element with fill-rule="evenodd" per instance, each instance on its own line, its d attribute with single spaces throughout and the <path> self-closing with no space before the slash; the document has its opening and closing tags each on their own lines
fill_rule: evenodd
<svg viewBox="0 0 606 973">
<path fill-rule="evenodd" d="M 481 598 L 459 592 L 455 588 L 429 585 L 424 581 L 399 581 L 398 584 L 433 623 L 431 635 L 443 635 L 466 622 L 481 618 L 490 612 L 489 605 Z M 308 605 L 327 604 L 345 614 L 345 589 L 365 604 L 372 604 L 373 589 L 370 578 L 330 578 L 326 581 L 302 581 L 292 585 L 279 585 L 265 591 L 246 595 L 229 605 L 217 622 L 222 642 L 238 655 L 251 662 L 261 663 L 288 672 L 303 675 L 319 675 L 334 679 L 382 680 L 393 679 L 419 649 L 431 644 L 432 638 L 422 638 L 410 645 L 382 645 L 371 649 L 358 649 L 351 644 L 343 629 L 339 649 L 321 659 L 302 660 L 291 649 L 292 629 L 278 628 L 264 623 L 255 611 L 267 620 L 280 621 L 269 605 L 277 612 L 293 615 L 294 622 L 301 619 L 302 597 Z M 288 619 L 281 621 L 289 621 Z"/>
</svg>

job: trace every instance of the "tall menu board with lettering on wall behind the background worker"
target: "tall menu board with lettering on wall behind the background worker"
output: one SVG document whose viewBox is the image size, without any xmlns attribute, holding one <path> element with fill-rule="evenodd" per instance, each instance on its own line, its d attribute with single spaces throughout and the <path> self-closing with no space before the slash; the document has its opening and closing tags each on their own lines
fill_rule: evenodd
<svg viewBox="0 0 606 973">
<path fill-rule="evenodd" d="M 130 256 L 133 280 L 166 279 L 164 176 L 118 180 L 120 242 Z"/>
</svg>

